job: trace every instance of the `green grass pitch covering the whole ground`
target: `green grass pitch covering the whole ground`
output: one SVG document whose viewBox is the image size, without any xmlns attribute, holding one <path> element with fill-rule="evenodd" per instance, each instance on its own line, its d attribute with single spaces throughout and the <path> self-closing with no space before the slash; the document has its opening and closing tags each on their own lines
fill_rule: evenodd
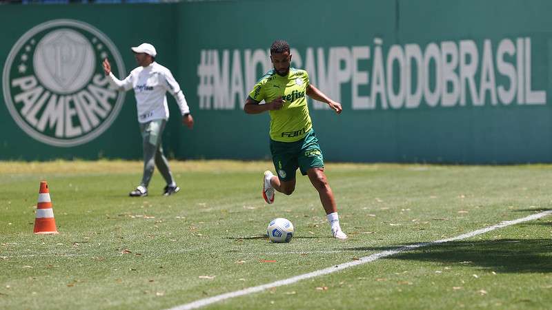
<svg viewBox="0 0 552 310">
<path fill-rule="evenodd" d="M 167 309 L 552 210 L 552 166 L 328 164 L 317 192 L 261 197 L 268 162 L 172 161 L 182 188 L 130 198 L 141 163 L 0 163 L 0 309 Z M 273 168 L 272 168 L 273 169 Z M 32 234 L 47 180 L 59 235 Z M 266 226 L 295 236 L 273 244 Z M 550 309 L 552 216 L 216 302 L 205 309 Z"/>
</svg>

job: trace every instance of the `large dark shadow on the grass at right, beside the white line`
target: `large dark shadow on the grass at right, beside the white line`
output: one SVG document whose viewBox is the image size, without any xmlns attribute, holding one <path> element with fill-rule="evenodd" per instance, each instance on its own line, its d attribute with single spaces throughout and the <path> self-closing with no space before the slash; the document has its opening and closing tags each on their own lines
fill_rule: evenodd
<svg viewBox="0 0 552 310">
<path fill-rule="evenodd" d="M 400 247 L 354 247 L 385 251 Z M 451 266 L 480 267 L 498 273 L 552 273 L 552 239 L 453 241 L 404 251 L 387 260 L 419 260 Z"/>
</svg>

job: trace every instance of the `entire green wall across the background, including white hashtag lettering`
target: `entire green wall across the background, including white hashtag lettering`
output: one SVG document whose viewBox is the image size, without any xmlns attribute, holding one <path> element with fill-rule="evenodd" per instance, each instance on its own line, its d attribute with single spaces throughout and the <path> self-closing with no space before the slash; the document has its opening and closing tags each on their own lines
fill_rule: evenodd
<svg viewBox="0 0 552 310">
<path fill-rule="evenodd" d="M 196 121 L 193 131 L 182 127 L 169 98 L 169 154 L 269 158 L 268 114 L 247 115 L 242 106 L 270 68 L 270 43 L 286 39 L 294 65 L 344 107 L 337 116 L 310 106 L 326 161 L 551 162 L 551 9 L 544 0 L 3 6 L 0 25 L 18 30 L 6 34 L 0 61 L 26 31 L 52 19 L 106 34 L 127 73 L 135 67 L 128 48 L 149 41 Z M 0 138 L 0 158 L 141 157 L 132 92 L 106 132 L 75 147 L 30 138 L 6 105 L 0 117 L 9 133 Z"/>
</svg>

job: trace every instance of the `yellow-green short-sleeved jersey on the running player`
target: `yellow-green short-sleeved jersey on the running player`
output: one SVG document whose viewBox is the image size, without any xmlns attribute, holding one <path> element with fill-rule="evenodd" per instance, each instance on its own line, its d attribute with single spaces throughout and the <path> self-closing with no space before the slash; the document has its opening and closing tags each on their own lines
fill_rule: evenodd
<svg viewBox="0 0 552 310">
<path fill-rule="evenodd" d="M 279 142 L 295 142 L 304 138 L 313 123 L 306 104 L 308 74 L 305 70 L 290 68 L 287 76 L 270 70 L 249 93 L 254 101 L 270 102 L 282 96 L 280 110 L 270 110 L 270 138 Z"/>
</svg>

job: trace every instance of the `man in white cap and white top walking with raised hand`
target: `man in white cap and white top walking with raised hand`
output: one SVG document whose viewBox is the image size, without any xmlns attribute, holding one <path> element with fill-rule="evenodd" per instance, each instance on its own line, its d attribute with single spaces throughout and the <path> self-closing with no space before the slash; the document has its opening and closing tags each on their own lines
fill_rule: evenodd
<svg viewBox="0 0 552 310">
<path fill-rule="evenodd" d="M 109 76 L 109 83 L 121 91 L 134 89 L 136 97 L 138 122 L 144 147 L 144 176 L 140 185 L 129 195 L 133 197 L 148 196 L 148 185 L 153 170 L 157 166 L 167 183 L 163 194 L 169 196 L 177 193 L 180 188 L 175 183 L 175 179 L 172 178 L 161 145 L 161 136 L 168 121 L 166 92 L 170 92 L 175 97 L 184 125 L 192 129 L 194 119 L 190 114 L 190 107 L 186 103 L 184 93 L 170 70 L 155 62 L 157 52 L 153 45 L 142 43 L 131 49 L 135 54 L 138 67 L 132 70 L 123 81 L 117 79 L 111 72 L 108 59 L 103 60 L 103 71 L 106 72 L 106 76 Z"/>
</svg>

